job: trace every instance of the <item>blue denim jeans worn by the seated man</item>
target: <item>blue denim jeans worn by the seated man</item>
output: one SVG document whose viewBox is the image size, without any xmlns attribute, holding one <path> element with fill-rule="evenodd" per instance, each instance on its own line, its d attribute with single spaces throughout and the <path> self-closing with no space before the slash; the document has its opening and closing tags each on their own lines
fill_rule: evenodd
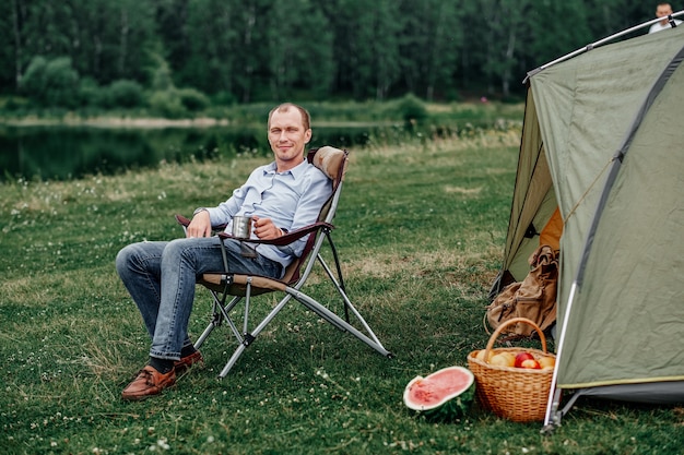
<svg viewBox="0 0 684 455">
<path fill-rule="evenodd" d="M 253 259 L 243 256 L 237 240 L 227 240 L 225 246 L 229 272 L 281 277 L 282 265 L 278 262 L 259 254 Z M 181 348 L 192 344 L 188 321 L 196 279 L 203 273 L 224 268 L 220 239 L 129 244 L 117 254 L 116 267 L 152 337 L 150 356 L 180 359 Z"/>
</svg>

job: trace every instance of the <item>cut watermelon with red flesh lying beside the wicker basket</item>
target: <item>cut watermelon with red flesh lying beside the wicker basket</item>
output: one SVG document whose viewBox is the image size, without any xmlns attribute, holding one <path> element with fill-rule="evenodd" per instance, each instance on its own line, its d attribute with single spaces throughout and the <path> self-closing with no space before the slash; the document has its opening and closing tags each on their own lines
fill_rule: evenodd
<svg viewBox="0 0 684 455">
<path fill-rule="evenodd" d="M 415 376 L 404 388 L 404 404 L 428 418 L 458 419 L 475 397 L 475 376 L 463 367 L 448 367 L 427 378 Z"/>
</svg>

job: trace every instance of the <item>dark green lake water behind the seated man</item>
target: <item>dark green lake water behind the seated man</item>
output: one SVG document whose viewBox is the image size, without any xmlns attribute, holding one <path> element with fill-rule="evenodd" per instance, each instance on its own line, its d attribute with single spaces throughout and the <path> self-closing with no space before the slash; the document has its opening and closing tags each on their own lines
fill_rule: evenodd
<svg viewBox="0 0 684 455">
<path fill-rule="evenodd" d="M 381 131 L 380 131 L 381 130 Z M 402 128 L 316 127 L 309 146 L 351 148 L 369 137 L 404 134 Z M 271 151 L 263 129 L 229 127 L 110 129 L 1 127 L 0 180 L 66 180 L 154 167 L 161 161 L 211 159 Z"/>
</svg>

